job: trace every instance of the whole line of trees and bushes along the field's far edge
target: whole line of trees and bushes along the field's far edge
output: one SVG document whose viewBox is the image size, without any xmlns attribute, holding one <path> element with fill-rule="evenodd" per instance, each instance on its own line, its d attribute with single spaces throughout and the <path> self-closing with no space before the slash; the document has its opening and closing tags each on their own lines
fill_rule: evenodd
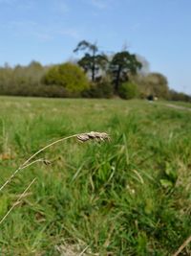
<svg viewBox="0 0 191 256">
<path fill-rule="evenodd" d="M 28 66 L 5 64 L 0 67 L 0 94 L 191 101 L 190 96 L 170 90 L 162 74 L 144 72 L 144 61 L 127 50 L 109 56 L 96 43 L 82 40 L 74 53 L 81 57 L 49 66 L 37 61 Z"/>
</svg>

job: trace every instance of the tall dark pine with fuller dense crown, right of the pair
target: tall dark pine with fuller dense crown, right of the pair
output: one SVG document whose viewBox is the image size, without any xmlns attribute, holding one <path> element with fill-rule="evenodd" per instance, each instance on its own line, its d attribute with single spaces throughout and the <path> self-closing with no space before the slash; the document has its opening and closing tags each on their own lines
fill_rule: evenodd
<svg viewBox="0 0 191 256">
<path fill-rule="evenodd" d="M 117 53 L 111 60 L 110 73 L 115 84 L 115 91 L 118 92 L 118 86 L 121 81 L 128 81 L 129 75 L 136 75 L 138 69 L 142 66 L 136 55 L 130 54 L 128 51 Z"/>
</svg>

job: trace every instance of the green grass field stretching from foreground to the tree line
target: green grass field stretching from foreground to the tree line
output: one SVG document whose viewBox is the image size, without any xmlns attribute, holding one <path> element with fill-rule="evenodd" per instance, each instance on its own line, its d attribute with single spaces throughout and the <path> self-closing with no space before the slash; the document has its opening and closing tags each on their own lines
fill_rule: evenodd
<svg viewBox="0 0 191 256">
<path fill-rule="evenodd" d="M 191 235 L 191 112 L 144 101 L 0 98 L 0 255 L 172 255 Z M 191 255 L 187 245 L 180 255 Z"/>
</svg>

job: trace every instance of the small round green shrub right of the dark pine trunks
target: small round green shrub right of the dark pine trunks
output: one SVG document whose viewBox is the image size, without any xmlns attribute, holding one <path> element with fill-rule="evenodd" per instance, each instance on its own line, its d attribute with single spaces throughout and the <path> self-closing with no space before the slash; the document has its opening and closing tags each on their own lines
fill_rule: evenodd
<svg viewBox="0 0 191 256">
<path fill-rule="evenodd" d="M 138 85 L 130 81 L 124 82 L 120 85 L 118 94 L 122 99 L 125 99 L 125 100 L 137 98 Z"/>
</svg>

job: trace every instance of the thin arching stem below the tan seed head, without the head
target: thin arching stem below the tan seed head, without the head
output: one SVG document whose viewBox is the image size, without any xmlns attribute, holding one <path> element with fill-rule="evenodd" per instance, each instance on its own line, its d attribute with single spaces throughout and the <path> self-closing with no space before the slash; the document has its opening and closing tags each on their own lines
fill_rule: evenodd
<svg viewBox="0 0 191 256">
<path fill-rule="evenodd" d="M 51 143 L 51 144 L 45 146 L 45 147 L 42 148 L 41 150 L 34 152 L 34 153 L 32 154 L 32 156 L 30 156 L 30 158 L 28 158 L 22 165 L 20 165 L 20 166 L 14 171 L 14 173 L 6 180 L 6 182 L 0 187 L 0 192 L 2 191 L 2 189 L 3 189 L 6 185 L 8 185 L 8 183 L 11 182 L 11 179 L 12 179 L 15 175 L 17 175 L 17 173 L 18 173 L 20 170 L 25 169 L 26 167 L 28 167 L 28 166 L 32 165 L 33 163 L 39 161 L 39 160 L 36 160 L 36 161 L 33 161 L 31 164 L 29 164 L 29 162 L 30 162 L 37 154 L 39 154 L 39 153 L 42 152 L 42 151 L 47 150 L 48 148 L 52 147 L 54 144 L 57 144 L 57 143 L 59 143 L 59 142 L 62 142 L 62 141 L 65 141 L 65 140 L 68 140 L 68 139 L 77 137 L 78 135 L 80 135 L 80 133 L 79 133 L 79 134 L 74 134 L 74 135 L 71 135 L 71 136 L 68 136 L 68 137 L 61 138 L 61 139 L 56 140 L 56 141 L 54 141 L 53 143 Z"/>
</svg>

